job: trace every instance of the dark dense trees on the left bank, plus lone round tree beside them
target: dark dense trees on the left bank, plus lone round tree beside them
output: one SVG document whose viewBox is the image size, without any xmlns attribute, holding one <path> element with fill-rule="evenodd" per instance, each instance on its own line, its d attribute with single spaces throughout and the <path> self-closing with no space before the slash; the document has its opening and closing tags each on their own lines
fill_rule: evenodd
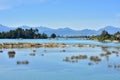
<svg viewBox="0 0 120 80">
<path fill-rule="evenodd" d="M 51 38 L 55 38 L 55 34 L 51 34 Z M 46 39 L 48 35 L 45 33 L 38 33 L 38 29 L 22 29 L 17 28 L 16 30 L 10 30 L 9 32 L 1 32 L 0 38 L 2 39 Z"/>
</svg>

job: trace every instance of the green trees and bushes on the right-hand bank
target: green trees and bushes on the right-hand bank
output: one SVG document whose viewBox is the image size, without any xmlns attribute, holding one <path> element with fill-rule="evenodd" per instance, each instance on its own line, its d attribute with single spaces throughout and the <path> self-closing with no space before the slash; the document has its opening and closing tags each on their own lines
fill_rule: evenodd
<svg viewBox="0 0 120 80">
<path fill-rule="evenodd" d="M 107 31 L 102 31 L 100 35 L 92 36 L 91 39 L 96 39 L 99 41 L 120 41 L 120 32 L 116 32 L 115 34 L 109 34 Z"/>
</svg>

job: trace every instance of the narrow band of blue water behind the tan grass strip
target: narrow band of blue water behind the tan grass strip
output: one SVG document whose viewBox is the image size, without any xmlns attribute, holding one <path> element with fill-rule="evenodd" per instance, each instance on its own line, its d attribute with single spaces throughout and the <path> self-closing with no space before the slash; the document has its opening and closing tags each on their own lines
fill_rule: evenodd
<svg viewBox="0 0 120 80">
<path fill-rule="evenodd" d="M 107 46 L 120 46 L 120 43 L 115 42 L 98 42 L 93 40 L 82 40 L 80 38 L 58 38 L 58 39 L 0 39 L 0 43 L 5 42 L 33 42 L 33 43 L 65 43 L 65 44 L 95 44 Z"/>
</svg>

